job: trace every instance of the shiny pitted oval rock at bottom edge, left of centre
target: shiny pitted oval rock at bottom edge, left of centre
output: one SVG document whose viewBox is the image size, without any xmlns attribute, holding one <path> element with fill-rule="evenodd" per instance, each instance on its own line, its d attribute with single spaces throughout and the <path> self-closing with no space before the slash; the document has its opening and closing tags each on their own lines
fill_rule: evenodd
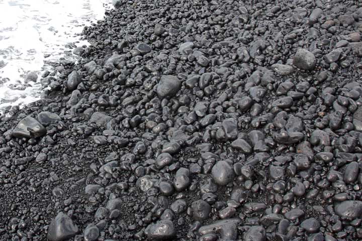
<svg viewBox="0 0 362 241">
<path fill-rule="evenodd" d="M 176 230 L 170 220 L 160 220 L 149 224 L 145 229 L 145 234 L 149 239 L 163 240 L 170 239 L 176 235 Z"/>
</svg>

